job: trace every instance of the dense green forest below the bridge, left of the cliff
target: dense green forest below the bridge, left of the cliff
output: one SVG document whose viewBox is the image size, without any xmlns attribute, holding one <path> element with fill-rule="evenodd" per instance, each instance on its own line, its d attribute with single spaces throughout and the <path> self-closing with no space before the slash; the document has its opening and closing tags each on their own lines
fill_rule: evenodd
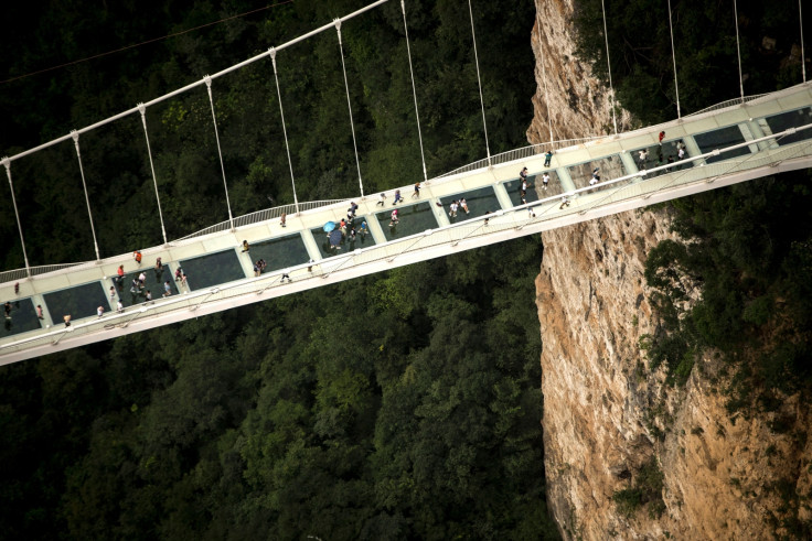
<svg viewBox="0 0 812 541">
<path fill-rule="evenodd" d="M 554 534 L 539 250 L 466 252 L 8 367 L 2 448 L 19 470 L 3 531 Z"/>
</svg>

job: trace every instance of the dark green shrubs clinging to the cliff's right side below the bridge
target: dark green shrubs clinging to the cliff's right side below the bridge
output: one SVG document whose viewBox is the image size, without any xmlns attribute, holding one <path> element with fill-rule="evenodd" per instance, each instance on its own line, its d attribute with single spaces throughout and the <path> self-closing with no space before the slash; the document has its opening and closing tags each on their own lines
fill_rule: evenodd
<svg viewBox="0 0 812 541">
<path fill-rule="evenodd" d="M 766 177 L 681 199 L 674 228 L 687 244 L 649 255 L 663 326 L 652 365 L 684 382 L 708 348 L 736 371 L 729 407 L 754 398 L 773 409 L 774 391 L 812 390 L 812 210 L 810 171 Z M 788 219 L 791 217 L 791 219 Z M 685 309 L 694 286 L 702 299 Z M 755 394 L 755 397 L 754 397 Z"/>
</svg>

